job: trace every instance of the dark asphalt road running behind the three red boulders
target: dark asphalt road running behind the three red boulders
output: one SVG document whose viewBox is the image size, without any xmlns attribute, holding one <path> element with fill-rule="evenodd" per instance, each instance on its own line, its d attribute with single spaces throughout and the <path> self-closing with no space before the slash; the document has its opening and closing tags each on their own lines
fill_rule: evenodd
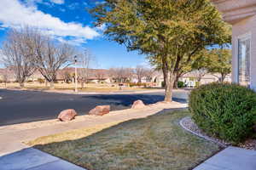
<svg viewBox="0 0 256 170">
<path fill-rule="evenodd" d="M 181 95 L 178 92 L 176 95 Z M 87 114 L 96 105 L 111 105 L 112 111 L 129 108 L 134 100 L 153 104 L 164 99 L 163 93 L 152 94 L 55 94 L 37 91 L 0 89 L 0 126 L 54 119 L 65 109 Z M 184 101 L 174 99 L 175 101 Z"/>
</svg>

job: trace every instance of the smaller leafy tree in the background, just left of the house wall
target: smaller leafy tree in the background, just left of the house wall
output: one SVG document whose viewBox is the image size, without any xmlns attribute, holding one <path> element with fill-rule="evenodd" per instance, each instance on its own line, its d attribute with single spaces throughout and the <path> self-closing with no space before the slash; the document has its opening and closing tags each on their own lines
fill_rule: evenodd
<svg viewBox="0 0 256 170">
<path fill-rule="evenodd" d="M 218 77 L 218 82 L 224 82 L 225 77 L 231 73 L 232 54 L 230 49 L 212 49 L 208 57 L 208 71 Z M 216 74 L 219 74 L 216 75 Z"/>
</svg>

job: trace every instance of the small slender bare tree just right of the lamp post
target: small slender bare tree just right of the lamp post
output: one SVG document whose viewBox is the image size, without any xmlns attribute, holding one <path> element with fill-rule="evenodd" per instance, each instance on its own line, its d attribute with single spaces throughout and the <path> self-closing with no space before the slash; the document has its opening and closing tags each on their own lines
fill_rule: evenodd
<svg viewBox="0 0 256 170">
<path fill-rule="evenodd" d="M 81 88 L 84 88 L 84 82 L 88 82 L 90 66 L 95 58 L 92 54 L 90 54 L 88 49 L 84 49 L 84 51 L 82 51 L 78 57 L 79 66 L 81 67 L 78 71 L 79 81 L 81 82 Z"/>
</svg>

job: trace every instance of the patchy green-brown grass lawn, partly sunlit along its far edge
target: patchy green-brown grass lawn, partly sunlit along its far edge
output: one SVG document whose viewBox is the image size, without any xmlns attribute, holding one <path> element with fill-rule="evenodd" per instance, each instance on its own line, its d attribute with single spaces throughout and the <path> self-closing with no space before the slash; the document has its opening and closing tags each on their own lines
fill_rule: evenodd
<svg viewBox="0 0 256 170">
<path fill-rule="evenodd" d="M 73 130 L 28 144 L 90 170 L 190 170 L 221 150 L 179 126 L 188 111 Z"/>
</svg>

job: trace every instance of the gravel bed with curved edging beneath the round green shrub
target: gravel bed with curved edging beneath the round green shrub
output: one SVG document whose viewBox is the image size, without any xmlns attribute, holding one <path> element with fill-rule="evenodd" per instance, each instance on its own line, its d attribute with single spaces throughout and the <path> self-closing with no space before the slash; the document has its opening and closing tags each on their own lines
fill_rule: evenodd
<svg viewBox="0 0 256 170">
<path fill-rule="evenodd" d="M 212 142 L 218 143 L 224 147 L 231 145 L 230 143 L 225 142 L 224 140 L 209 137 L 207 133 L 204 133 L 189 116 L 184 117 L 180 121 L 180 124 L 183 128 L 189 130 L 190 133 L 194 133 L 195 135 L 198 135 L 201 138 L 211 140 Z M 247 139 L 245 142 L 238 144 L 237 146 L 247 150 L 256 150 L 256 139 Z"/>
</svg>

